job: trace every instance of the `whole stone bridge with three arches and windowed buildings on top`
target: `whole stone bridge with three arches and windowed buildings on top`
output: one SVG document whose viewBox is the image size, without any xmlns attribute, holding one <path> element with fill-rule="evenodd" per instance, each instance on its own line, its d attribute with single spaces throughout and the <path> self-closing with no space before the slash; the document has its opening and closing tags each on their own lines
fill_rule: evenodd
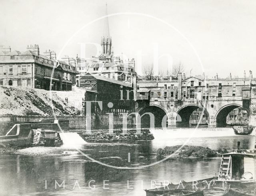
<svg viewBox="0 0 256 196">
<path fill-rule="evenodd" d="M 251 73 L 250 73 L 251 74 Z M 208 127 L 226 127 L 226 117 L 241 107 L 250 115 L 256 98 L 256 78 L 202 79 L 178 75 L 175 80 L 136 81 L 134 79 L 136 112 L 142 116 L 153 113 L 155 127 L 189 127 L 190 115 L 198 108 L 207 116 Z M 146 118 L 143 115 L 142 118 Z M 164 121 L 162 119 L 165 117 Z"/>
</svg>

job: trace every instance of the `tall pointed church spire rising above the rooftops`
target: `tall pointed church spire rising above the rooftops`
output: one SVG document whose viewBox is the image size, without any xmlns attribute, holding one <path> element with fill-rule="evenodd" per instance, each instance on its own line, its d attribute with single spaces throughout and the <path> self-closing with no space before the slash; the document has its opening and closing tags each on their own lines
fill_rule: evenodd
<svg viewBox="0 0 256 196">
<path fill-rule="evenodd" d="M 106 4 L 106 14 L 105 16 L 108 15 L 108 4 Z M 104 22 L 104 35 L 100 40 L 100 45 L 102 47 L 102 53 L 99 57 L 101 61 L 106 61 L 106 62 L 111 62 L 111 57 L 112 57 L 112 40 L 110 37 L 110 32 L 109 32 L 109 24 L 108 24 L 108 17 L 105 18 Z"/>
</svg>

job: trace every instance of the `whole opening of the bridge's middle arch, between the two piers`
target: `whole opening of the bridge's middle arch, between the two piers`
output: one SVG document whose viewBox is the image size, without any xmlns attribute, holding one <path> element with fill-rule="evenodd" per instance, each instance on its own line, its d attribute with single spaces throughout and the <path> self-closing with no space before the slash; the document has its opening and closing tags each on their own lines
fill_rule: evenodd
<svg viewBox="0 0 256 196">
<path fill-rule="evenodd" d="M 209 125 L 208 112 L 198 105 L 186 105 L 182 107 L 177 112 L 177 116 L 181 120 L 176 118 L 176 127 L 196 127 L 198 124 L 208 127 Z"/>
</svg>

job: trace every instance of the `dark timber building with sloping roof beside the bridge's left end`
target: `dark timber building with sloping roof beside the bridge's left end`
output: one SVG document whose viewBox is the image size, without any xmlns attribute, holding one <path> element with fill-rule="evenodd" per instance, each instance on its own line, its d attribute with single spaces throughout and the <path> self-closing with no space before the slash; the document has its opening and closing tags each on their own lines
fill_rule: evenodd
<svg viewBox="0 0 256 196">
<path fill-rule="evenodd" d="M 87 73 L 80 78 L 80 87 L 86 89 L 85 101 L 102 101 L 102 109 L 92 103 L 92 113 L 120 114 L 134 110 L 132 87 L 121 81 Z"/>
</svg>

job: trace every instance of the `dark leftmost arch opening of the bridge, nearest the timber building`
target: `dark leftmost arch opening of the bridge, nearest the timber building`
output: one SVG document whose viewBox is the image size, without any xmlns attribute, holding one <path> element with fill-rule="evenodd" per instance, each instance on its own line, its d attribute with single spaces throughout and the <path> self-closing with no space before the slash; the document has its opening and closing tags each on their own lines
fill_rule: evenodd
<svg viewBox="0 0 256 196">
<path fill-rule="evenodd" d="M 166 115 L 164 109 L 158 106 L 148 106 L 139 111 L 140 116 L 145 113 L 152 113 L 154 115 L 154 126 L 162 128 L 162 119 Z M 150 127 L 150 116 L 148 114 L 145 114 L 141 117 L 141 127 Z"/>
</svg>

